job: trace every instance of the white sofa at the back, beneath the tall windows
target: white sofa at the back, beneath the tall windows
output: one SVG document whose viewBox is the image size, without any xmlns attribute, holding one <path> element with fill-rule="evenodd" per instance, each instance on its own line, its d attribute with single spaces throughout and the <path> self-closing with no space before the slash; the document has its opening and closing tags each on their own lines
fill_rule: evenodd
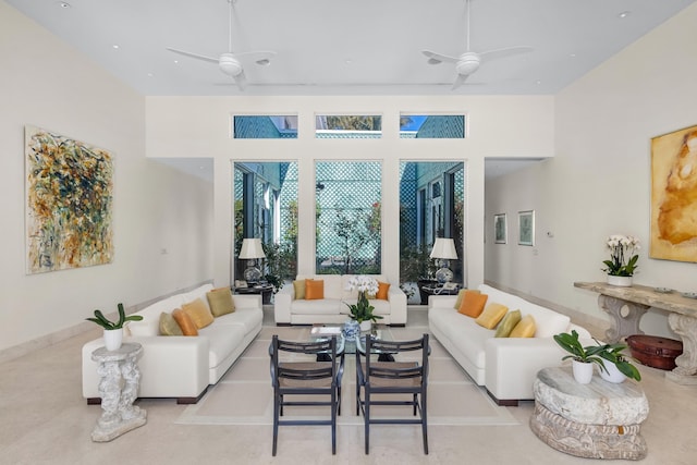
<svg viewBox="0 0 697 465">
<path fill-rule="evenodd" d="M 376 280 L 388 282 L 381 274 L 369 274 Z M 325 298 L 296 299 L 293 284 L 284 285 L 274 297 L 273 315 L 277 325 L 343 323 L 351 311 L 346 304 L 355 304 L 358 292 L 348 289 L 348 280 L 354 274 L 298 274 L 297 280 L 325 281 Z M 382 317 L 380 323 L 406 325 L 406 294 L 398 284 L 391 284 L 388 299 L 370 299 L 375 314 Z"/>
</svg>

